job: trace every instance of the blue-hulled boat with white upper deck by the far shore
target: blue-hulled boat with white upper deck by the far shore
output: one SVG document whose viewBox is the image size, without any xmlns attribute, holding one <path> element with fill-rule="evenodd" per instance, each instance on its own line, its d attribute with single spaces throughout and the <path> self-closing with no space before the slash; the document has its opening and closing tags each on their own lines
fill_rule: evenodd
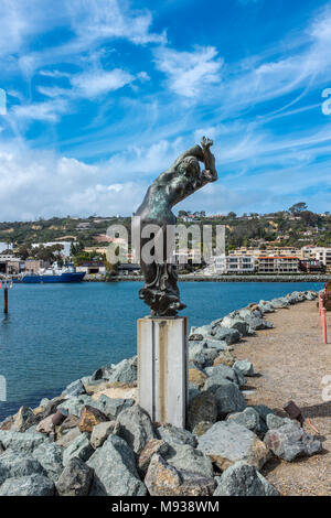
<svg viewBox="0 0 331 518">
<path fill-rule="evenodd" d="M 38 273 L 23 273 L 17 281 L 24 284 L 41 284 L 53 282 L 81 282 L 85 272 L 77 272 L 74 265 L 58 267 L 57 262 L 53 262 L 50 268 L 41 268 Z"/>
</svg>

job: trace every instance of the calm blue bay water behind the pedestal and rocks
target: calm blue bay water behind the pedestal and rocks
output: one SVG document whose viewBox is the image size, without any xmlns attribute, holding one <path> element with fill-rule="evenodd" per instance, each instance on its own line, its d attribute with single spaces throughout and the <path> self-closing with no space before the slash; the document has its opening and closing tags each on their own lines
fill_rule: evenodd
<svg viewBox="0 0 331 518">
<path fill-rule="evenodd" d="M 22 404 L 38 406 L 42 397 L 58 395 L 102 365 L 132 356 L 136 321 L 148 314 L 139 288 L 139 282 L 15 284 L 10 314 L 0 316 L 0 375 L 7 379 L 0 420 Z M 190 325 L 203 325 L 260 299 L 321 288 L 311 282 L 183 282 L 181 296 Z"/>
</svg>

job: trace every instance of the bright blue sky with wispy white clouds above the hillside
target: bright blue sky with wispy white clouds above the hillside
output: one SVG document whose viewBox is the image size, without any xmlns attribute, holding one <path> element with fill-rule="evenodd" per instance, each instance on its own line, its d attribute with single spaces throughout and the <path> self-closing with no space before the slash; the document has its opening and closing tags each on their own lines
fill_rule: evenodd
<svg viewBox="0 0 331 518">
<path fill-rule="evenodd" d="M 331 2 L 0 0 L 0 219 L 130 215 L 214 139 L 177 208 L 330 209 Z"/>
</svg>

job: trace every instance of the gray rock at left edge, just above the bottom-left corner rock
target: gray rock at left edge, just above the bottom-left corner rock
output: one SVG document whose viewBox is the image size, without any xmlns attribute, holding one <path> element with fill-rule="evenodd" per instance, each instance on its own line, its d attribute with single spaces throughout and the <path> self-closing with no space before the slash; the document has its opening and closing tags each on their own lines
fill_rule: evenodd
<svg viewBox="0 0 331 518">
<path fill-rule="evenodd" d="M 23 455 L 22 453 L 15 452 L 13 450 L 7 450 L 1 454 L 0 484 L 3 484 L 7 478 L 28 476 L 32 475 L 33 473 L 46 476 L 46 472 L 40 462 L 38 462 L 31 455 Z"/>
</svg>

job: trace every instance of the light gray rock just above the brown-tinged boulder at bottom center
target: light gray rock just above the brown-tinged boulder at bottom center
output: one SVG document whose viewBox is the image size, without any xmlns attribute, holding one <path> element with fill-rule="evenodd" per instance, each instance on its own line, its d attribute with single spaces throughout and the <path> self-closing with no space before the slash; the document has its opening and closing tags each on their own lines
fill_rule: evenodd
<svg viewBox="0 0 331 518">
<path fill-rule="evenodd" d="M 200 450 L 190 446 L 190 444 L 174 444 L 162 456 L 164 461 L 179 471 L 184 470 L 205 477 L 214 476 L 210 457 Z"/>
</svg>

